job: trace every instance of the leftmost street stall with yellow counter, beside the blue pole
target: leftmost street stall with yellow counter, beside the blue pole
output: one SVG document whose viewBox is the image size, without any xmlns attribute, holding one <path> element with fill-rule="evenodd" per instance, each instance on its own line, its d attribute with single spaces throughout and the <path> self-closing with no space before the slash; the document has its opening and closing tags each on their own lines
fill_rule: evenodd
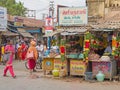
<svg viewBox="0 0 120 90">
<path fill-rule="evenodd" d="M 64 68 L 67 75 L 67 60 L 64 60 L 64 61 L 61 60 L 62 57 L 59 51 L 60 39 L 57 40 L 61 32 L 62 30 L 61 31 L 57 30 L 50 34 L 44 35 L 44 38 L 48 38 L 48 37 L 50 38 L 49 42 L 46 39 L 46 43 L 47 43 L 46 46 L 50 46 L 50 47 L 49 48 L 47 47 L 47 50 L 45 51 L 44 58 L 43 58 L 44 72 L 53 71 L 54 69 L 55 70 L 57 69 L 60 71 L 61 68 Z"/>
</svg>

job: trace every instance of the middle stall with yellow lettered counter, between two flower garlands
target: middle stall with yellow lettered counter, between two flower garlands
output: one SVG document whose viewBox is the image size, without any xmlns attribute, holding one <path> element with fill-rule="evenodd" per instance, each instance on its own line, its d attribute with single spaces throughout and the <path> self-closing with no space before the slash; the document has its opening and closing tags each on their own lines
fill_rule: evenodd
<svg viewBox="0 0 120 90">
<path fill-rule="evenodd" d="M 89 30 L 87 26 L 66 27 L 61 37 L 65 39 L 65 56 L 67 59 L 68 74 L 84 76 L 87 69 L 87 57 L 84 45 L 86 32 Z"/>
</svg>

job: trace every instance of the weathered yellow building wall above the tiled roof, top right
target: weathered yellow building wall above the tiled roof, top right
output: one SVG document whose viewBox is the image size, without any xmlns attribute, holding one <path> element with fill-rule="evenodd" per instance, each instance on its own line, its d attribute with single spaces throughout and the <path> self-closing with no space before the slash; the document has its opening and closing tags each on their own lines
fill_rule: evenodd
<svg viewBox="0 0 120 90">
<path fill-rule="evenodd" d="M 117 5 L 120 7 L 120 0 L 87 0 L 88 15 L 104 17 L 110 7 Z"/>
</svg>

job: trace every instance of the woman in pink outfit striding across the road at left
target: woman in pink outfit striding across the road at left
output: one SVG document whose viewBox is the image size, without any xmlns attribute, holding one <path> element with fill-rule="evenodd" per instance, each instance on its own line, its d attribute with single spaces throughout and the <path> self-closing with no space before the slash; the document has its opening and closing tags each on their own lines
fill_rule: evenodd
<svg viewBox="0 0 120 90">
<path fill-rule="evenodd" d="M 5 53 L 8 53 L 9 54 L 9 58 L 8 58 L 8 61 L 6 62 L 6 66 L 4 68 L 4 74 L 3 76 L 6 76 L 7 75 L 7 71 L 9 70 L 11 76 L 13 78 L 15 78 L 15 74 L 14 74 L 14 71 L 13 71 L 13 57 L 14 57 L 14 54 L 15 54 L 15 48 L 13 46 L 13 41 L 12 40 L 9 40 L 8 41 L 8 45 L 5 46 Z"/>
</svg>

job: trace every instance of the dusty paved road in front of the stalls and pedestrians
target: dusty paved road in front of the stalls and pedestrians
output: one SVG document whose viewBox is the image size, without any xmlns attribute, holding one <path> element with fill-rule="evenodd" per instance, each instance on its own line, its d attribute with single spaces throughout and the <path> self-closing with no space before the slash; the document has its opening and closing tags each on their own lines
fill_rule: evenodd
<svg viewBox="0 0 120 90">
<path fill-rule="evenodd" d="M 54 79 L 45 78 L 42 72 L 37 72 L 37 79 L 30 79 L 24 62 L 15 62 L 16 79 L 3 77 L 3 66 L 0 66 L 0 90 L 120 90 L 120 82 L 89 83 L 79 78 Z"/>
</svg>

